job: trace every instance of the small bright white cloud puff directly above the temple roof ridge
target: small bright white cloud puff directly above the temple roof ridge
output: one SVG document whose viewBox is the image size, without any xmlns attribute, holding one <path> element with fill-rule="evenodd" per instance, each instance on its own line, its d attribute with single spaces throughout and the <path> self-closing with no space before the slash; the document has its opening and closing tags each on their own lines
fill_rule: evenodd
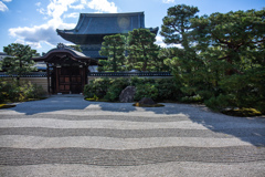
<svg viewBox="0 0 265 177">
<path fill-rule="evenodd" d="M 117 13 L 118 8 L 114 2 L 108 2 L 107 0 L 92 0 L 87 3 L 87 7 L 94 10 L 98 10 L 99 12 L 109 12 Z"/>
</svg>

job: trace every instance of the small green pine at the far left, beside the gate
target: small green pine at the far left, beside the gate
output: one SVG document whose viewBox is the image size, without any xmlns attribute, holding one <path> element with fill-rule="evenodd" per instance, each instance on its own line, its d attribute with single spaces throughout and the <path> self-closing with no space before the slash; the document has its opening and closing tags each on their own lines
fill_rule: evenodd
<svg viewBox="0 0 265 177">
<path fill-rule="evenodd" d="M 17 80 L 20 80 L 21 75 L 34 71 L 34 61 L 31 58 L 36 53 L 29 45 L 20 43 L 11 43 L 8 46 L 3 46 L 8 58 L 1 61 L 1 67 L 7 71 L 9 75 L 17 75 Z"/>
</svg>

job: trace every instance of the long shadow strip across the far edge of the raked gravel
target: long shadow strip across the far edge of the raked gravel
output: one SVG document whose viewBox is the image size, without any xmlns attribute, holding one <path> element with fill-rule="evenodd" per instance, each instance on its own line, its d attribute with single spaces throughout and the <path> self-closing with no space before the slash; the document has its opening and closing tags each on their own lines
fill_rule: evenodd
<svg viewBox="0 0 265 177">
<path fill-rule="evenodd" d="M 10 110 L 24 113 L 25 115 L 71 110 L 73 112 L 85 112 L 87 113 L 86 116 L 89 116 L 89 112 L 93 111 L 128 113 L 128 115 L 131 112 L 137 112 L 142 118 L 146 118 L 144 119 L 146 122 L 150 122 L 150 117 L 153 114 L 161 115 L 161 118 L 167 119 L 167 122 L 189 118 L 214 133 L 232 135 L 254 146 L 265 147 L 264 117 L 233 117 L 213 113 L 203 105 L 163 104 L 165 107 L 135 107 L 131 103 L 88 102 L 84 101 L 82 95 L 53 95 L 43 101 L 21 103 Z M 163 115 L 166 116 L 163 117 Z M 148 116 L 148 118 L 145 116 Z M 130 116 L 128 116 L 129 118 Z M 156 118 L 158 117 L 156 116 Z"/>
</svg>

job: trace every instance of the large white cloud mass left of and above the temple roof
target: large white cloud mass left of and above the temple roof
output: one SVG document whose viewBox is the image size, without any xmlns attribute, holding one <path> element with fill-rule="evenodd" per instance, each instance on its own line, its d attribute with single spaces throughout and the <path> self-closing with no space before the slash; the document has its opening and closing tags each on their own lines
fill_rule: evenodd
<svg viewBox="0 0 265 177">
<path fill-rule="evenodd" d="M 0 1 L 1 2 L 1 1 Z M 46 23 L 34 27 L 18 27 L 9 29 L 9 34 L 36 49 L 42 44 L 55 46 L 59 42 L 70 43 L 56 33 L 56 29 L 73 29 L 75 23 L 65 23 L 65 18 L 77 18 L 78 12 L 66 13 L 68 9 L 91 8 L 99 12 L 117 12 L 117 7 L 108 0 L 50 0 L 45 9 L 35 3 L 36 11 L 44 14 Z"/>
</svg>

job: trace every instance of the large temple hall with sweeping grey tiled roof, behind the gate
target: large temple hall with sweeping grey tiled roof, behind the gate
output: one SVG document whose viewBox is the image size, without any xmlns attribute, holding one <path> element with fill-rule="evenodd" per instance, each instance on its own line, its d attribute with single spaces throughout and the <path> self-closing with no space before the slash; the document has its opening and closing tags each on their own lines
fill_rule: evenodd
<svg viewBox="0 0 265 177">
<path fill-rule="evenodd" d="M 83 53 L 93 59 L 99 55 L 103 38 L 113 34 L 127 34 L 145 27 L 145 13 L 81 13 L 77 25 L 72 30 L 56 30 L 63 39 L 81 45 Z M 157 34 L 158 28 L 146 28 Z"/>
</svg>

